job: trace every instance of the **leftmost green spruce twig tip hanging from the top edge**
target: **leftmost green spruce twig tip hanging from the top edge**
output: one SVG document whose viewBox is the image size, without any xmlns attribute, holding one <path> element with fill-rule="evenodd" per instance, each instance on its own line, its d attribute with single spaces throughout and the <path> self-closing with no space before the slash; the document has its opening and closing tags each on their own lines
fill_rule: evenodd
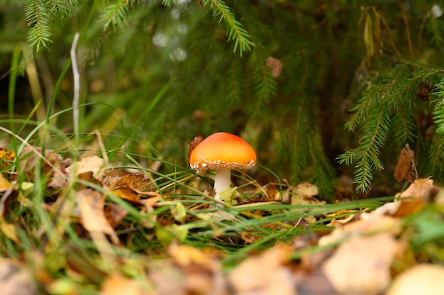
<svg viewBox="0 0 444 295">
<path fill-rule="evenodd" d="M 35 51 L 43 46 L 48 47 L 50 40 L 50 11 L 48 11 L 48 0 L 26 0 L 25 19 L 30 27 L 28 32 L 28 43 Z"/>
</svg>

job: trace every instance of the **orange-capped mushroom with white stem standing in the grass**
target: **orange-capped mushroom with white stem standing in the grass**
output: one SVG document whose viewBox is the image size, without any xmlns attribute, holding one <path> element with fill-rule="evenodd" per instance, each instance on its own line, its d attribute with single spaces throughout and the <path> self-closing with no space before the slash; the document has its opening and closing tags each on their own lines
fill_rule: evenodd
<svg viewBox="0 0 444 295">
<path fill-rule="evenodd" d="M 221 191 L 230 188 L 231 168 L 250 169 L 256 164 L 256 153 L 242 138 L 225 132 L 210 135 L 192 150 L 192 169 L 216 170 L 214 191 L 216 201 L 223 201 Z"/>
</svg>

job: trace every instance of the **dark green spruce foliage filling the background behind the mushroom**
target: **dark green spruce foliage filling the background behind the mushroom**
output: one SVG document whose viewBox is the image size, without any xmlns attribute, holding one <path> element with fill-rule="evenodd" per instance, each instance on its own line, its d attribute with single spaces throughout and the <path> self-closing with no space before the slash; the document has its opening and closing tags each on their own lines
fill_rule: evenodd
<svg viewBox="0 0 444 295">
<path fill-rule="evenodd" d="M 39 52 L 33 64 L 45 97 L 32 101 L 41 101 L 40 108 L 48 101 L 52 111 L 70 107 L 70 75 L 57 81 L 55 94 L 50 85 L 66 72 L 74 33 L 81 33 L 81 100 L 94 103 L 84 110 L 85 131 L 109 130 L 109 108 L 102 106 L 111 105 L 126 131 L 183 166 L 185 140 L 236 133 L 254 145 L 261 165 L 292 183 L 315 182 L 326 198 L 333 197 L 336 174 L 355 173 L 357 189 L 367 191 L 384 173 L 379 181 L 393 187 L 399 149 L 409 143 L 421 176 L 443 182 L 443 96 L 433 93 L 444 67 L 440 2 L 26 0 L 0 6 L 1 68 L 9 70 L 9 55 L 27 35 Z M 269 57 L 282 62 L 276 77 Z M 19 58 L 26 69 L 29 61 Z M 34 103 L 19 99 L 38 92 L 11 78 L 16 89 L 8 90 L 9 101 L 32 117 Z M 153 104 L 153 94 L 169 83 Z M 427 87 L 432 93 L 417 94 Z M 70 121 L 60 118 L 58 127 L 69 129 Z M 339 165 L 338 155 L 350 167 Z"/>
</svg>

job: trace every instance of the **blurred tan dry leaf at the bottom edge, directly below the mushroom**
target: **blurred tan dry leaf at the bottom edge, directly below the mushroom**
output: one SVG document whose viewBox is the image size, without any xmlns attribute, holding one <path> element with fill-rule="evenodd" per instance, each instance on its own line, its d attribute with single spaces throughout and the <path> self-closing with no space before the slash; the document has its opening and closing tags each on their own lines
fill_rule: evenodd
<svg viewBox="0 0 444 295">
<path fill-rule="evenodd" d="M 297 294 L 294 276 L 284 266 L 291 251 L 279 245 L 241 262 L 228 274 L 234 294 Z"/>
</svg>

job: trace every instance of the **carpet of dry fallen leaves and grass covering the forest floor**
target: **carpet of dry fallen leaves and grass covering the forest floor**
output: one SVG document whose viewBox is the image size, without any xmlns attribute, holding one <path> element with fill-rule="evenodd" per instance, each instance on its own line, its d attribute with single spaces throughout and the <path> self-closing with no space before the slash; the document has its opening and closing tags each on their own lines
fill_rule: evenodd
<svg viewBox="0 0 444 295">
<path fill-rule="evenodd" d="M 444 267 L 432 263 L 440 254 L 414 250 L 444 238 L 421 217 L 442 213 L 444 194 L 432 179 L 412 176 L 408 147 L 395 173 L 411 182 L 405 191 L 377 208 L 331 210 L 309 183 L 268 184 L 260 196 L 219 210 L 204 194 L 162 190 L 148 174 L 113 176 L 97 156 L 72 162 L 42 152 L 23 150 L 11 172 L 16 155 L 0 149 L 6 247 L 23 247 L 23 234 L 43 238 L 34 252 L 0 259 L 2 294 L 444 294 Z M 32 206 L 23 184 L 35 189 L 36 169 L 48 191 L 40 210 L 52 226 L 26 233 L 17 223 L 24 215 L 14 212 Z M 439 213 L 434 218 L 442 223 Z"/>
</svg>

